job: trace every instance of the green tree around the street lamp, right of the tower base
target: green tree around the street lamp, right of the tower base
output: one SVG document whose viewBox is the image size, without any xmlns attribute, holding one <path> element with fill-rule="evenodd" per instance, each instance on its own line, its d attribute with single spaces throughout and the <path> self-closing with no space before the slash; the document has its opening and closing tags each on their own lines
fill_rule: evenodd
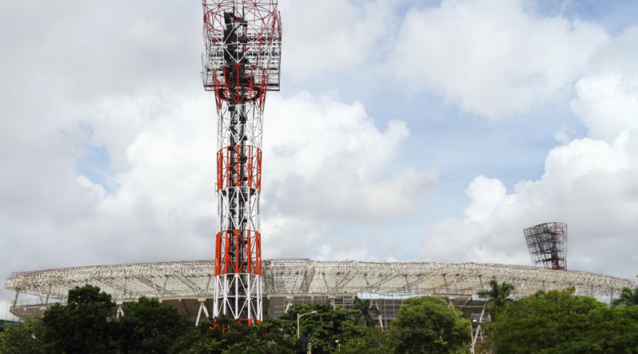
<svg viewBox="0 0 638 354">
<path fill-rule="evenodd" d="M 308 337 L 312 339 L 313 354 L 332 353 L 337 350 L 335 341 L 341 346 L 356 346 L 364 341 L 363 327 L 355 326 L 350 320 L 349 314 L 341 307 L 333 308 L 330 304 L 294 304 L 288 312 L 279 316 L 284 333 L 297 338 L 297 314 L 306 314 L 316 311 L 317 314 L 309 314 L 301 317 L 301 331 L 307 330 Z"/>
</svg>

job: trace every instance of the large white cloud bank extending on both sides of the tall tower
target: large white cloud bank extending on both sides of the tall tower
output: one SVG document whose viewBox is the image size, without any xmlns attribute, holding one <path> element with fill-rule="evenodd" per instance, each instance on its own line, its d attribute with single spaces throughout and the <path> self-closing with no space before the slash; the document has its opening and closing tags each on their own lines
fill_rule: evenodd
<svg viewBox="0 0 638 354">
<path fill-rule="evenodd" d="M 0 162 L 17 174 L 0 175 L 0 224 L 13 235 L 6 249 L 30 255 L 6 253 L 11 271 L 213 258 L 216 111 L 208 93 L 139 91 L 86 112 L 73 134 L 50 130 L 35 145 L 29 133 L 6 137 L 16 151 Z M 342 222 L 409 215 L 436 187 L 436 171 L 393 163 L 405 122 L 381 130 L 361 103 L 272 95 L 264 121 L 264 257 L 308 255 Z M 86 144 L 108 154 L 112 193 L 74 176 Z"/>
</svg>

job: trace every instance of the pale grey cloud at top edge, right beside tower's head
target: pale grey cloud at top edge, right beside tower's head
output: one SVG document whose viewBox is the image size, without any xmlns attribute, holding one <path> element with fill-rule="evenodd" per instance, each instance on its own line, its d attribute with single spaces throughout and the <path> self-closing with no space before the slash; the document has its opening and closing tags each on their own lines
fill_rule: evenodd
<svg viewBox="0 0 638 354">
<path fill-rule="evenodd" d="M 356 69 L 378 56 L 374 51 L 393 33 L 393 2 L 376 0 L 356 6 L 347 0 L 282 1 L 286 75 L 317 78 Z"/>
</svg>

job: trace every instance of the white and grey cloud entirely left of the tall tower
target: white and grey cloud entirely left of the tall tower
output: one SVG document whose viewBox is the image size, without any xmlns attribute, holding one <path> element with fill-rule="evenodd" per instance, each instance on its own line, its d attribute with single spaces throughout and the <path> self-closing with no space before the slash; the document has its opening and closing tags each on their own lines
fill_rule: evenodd
<svg viewBox="0 0 638 354">
<path fill-rule="evenodd" d="M 164 104 L 157 105 L 158 97 Z M 12 130 L 4 139 L 3 147 L 12 147 L 12 153 L 0 156 L 6 167 L 0 174 L 0 228 L 11 235 L 5 245 L 14 252 L 4 256 L 12 271 L 212 258 L 211 102 L 203 93 L 173 92 L 106 101 L 119 104 L 96 103 L 92 109 L 101 114 L 77 120 L 74 129 L 47 129 L 42 135 Z M 128 126 L 103 122 L 148 110 L 153 119 L 130 120 Z M 86 176 L 74 176 L 87 141 L 121 161 L 112 169 L 113 194 L 105 195 L 104 186 Z"/>
</svg>

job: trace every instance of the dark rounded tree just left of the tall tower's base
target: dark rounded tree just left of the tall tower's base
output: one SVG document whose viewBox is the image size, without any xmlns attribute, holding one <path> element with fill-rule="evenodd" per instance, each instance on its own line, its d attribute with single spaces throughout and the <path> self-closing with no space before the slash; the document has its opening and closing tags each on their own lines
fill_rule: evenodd
<svg viewBox="0 0 638 354">
<path fill-rule="evenodd" d="M 176 308 L 162 306 L 155 298 L 140 297 L 128 304 L 119 327 L 123 353 L 167 353 L 193 326 Z"/>
</svg>

